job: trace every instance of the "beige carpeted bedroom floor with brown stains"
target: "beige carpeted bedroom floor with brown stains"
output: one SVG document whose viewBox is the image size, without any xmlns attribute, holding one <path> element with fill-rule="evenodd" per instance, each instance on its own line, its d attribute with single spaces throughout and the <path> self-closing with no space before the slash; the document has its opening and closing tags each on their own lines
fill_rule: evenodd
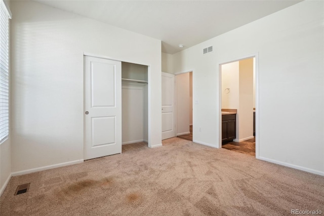
<svg viewBox="0 0 324 216">
<path fill-rule="evenodd" d="M 171 138 L 163 147 L 15 176 L 0 215 L 290 215 L 324 212 L 324 176 Z M 27 193 L 14 196 L 18 185 Z"/>
</svg>

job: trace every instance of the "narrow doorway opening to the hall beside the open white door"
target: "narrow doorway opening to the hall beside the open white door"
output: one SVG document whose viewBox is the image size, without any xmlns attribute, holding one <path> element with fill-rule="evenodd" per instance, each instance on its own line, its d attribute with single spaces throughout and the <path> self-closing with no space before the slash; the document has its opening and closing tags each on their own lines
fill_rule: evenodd
<svg viewBox="0 0 324 216">
<path fill-rule="evenodd" d="M 192 71 L 176 75 L 176 136 L 192 141 Z"/>
</svg>

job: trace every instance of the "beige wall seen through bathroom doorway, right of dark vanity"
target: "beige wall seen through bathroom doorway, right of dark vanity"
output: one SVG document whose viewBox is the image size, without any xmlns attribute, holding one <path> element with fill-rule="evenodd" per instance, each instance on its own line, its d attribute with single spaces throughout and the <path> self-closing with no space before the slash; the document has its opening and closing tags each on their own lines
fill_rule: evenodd
<svg viewBox="0 0 324 216">
<path fill-rule="evenodd" d="M 236 139 L 244 141 L 253 138 L 253 58 L 241 60 L 239 64 L 239 97 L 236 115 Z"/>
</svg>

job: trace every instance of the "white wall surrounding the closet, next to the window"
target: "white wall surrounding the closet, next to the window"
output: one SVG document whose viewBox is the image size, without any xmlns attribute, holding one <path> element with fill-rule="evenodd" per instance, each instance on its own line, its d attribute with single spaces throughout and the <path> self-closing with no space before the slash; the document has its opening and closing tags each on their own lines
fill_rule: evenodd
<svg viewBox="0 0 324 216">
<path fill-rule="evenodd" d="M 161 42 L 33 1 L 12 2 L 12 171 L 83 160 L 83 55 L 149 65 L 148 141 L 161 144 Z"/>
</svg>

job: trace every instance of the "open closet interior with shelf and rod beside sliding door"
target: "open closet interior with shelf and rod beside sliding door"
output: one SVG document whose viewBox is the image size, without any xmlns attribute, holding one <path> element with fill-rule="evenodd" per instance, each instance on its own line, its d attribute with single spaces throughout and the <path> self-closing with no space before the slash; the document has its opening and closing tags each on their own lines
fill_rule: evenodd
<svg viewBox="0 0 324 216">
<path fill-rule="evenodd" d="M 148 66 L 121 62 L 123 145 L 148 142 Z"/>
</svg>

